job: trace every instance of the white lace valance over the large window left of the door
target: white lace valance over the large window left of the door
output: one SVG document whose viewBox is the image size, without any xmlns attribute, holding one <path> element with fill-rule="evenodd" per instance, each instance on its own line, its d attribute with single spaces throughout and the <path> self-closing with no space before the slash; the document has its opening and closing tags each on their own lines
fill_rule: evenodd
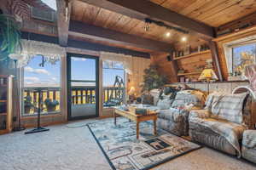
<svg viewBox="0 0 256 170">
<path fill-rule="evenodd" d="M 61 57 L 66 56 L 66 49 L 59 45 L 48 42 L 38 42 L 31 40 L 21 41 L 21 54 L 24 59 L 20 61 L 20 65 L 27 65 L 27 63 L 36 55 L 42 55 L 48 62 L 55 63 Z"/>
</svg>

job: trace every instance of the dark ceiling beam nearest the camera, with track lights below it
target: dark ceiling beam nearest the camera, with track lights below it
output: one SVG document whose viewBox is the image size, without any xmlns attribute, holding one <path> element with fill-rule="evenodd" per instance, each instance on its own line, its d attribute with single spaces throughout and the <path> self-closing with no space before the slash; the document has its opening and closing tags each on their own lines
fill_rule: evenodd
<svg viewBox="0 0 256 170">
<path fill-rule="evenodd" d="M 192 20 L 183 14 L 178 14 L 170 9 L 161 7 L 148 0 L 80 0 L 84 3 L 90 3 L 97 7 L 107 8 L 113 12 L 127 15 L 137 20 L 162 21 L 167 25 L 181 26 L 189 29 L 193 34 L 198 34 L 203 39 L 210 40 L 214 37 L 214 29 L 204 23 Z"/>
</svg>

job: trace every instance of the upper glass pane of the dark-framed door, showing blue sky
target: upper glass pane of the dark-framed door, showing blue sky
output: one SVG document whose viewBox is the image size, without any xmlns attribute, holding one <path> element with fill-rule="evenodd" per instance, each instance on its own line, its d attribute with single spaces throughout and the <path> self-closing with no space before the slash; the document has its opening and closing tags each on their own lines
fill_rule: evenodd
<svg viewBox="0 0 256 170">
<path fill-rule="evenodd" d="M 96 80 L 96 59 L 71 58 L 72 80 Z"/>
</svg>

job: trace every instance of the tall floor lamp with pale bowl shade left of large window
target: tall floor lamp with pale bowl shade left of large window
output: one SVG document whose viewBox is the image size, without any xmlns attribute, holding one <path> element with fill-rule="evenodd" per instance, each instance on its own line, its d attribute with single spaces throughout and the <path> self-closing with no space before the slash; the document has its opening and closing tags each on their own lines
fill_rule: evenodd
<svg viewBox="0 0 256 170">
<path fill-rule="evenodd" d="M 18 80 L 18 75 L 19 71 L 17 69 L 17 62 L 21 59 L 23 59 L 22 55 L 20 54 L 9 54 L 9 58 L 13 59 L 15 61 L 15 95 L 18 99 L 18 102 L 15 102 L 16 110 L 17 110 L 17 118 L 18 118 L 18 127 L 14 127 L 13 131 L 22 131 L 25 130 L 25 127 L 21 127 L 21 121 L 20 121 L 20 93 L 19 93 L 19 80 Z"/>
</svg>

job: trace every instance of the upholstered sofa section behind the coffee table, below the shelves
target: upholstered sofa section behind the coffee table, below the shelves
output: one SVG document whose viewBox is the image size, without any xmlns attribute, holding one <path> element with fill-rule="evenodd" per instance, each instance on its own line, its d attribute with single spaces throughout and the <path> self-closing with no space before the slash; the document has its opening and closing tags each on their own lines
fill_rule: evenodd
<svg viewBox="0 0 256 170">
<path fill-rule="evenodd" d="M 198 90 L 176 91 L 165 88 L 163 93 L 156 93 L 154 98 L 154 104 L 148 105 L 148 109 L 158 111 L 157 127 L 178 136 L 188 136 L 189 111 L 203 108 L 206 96 Z"/>
</svg>

